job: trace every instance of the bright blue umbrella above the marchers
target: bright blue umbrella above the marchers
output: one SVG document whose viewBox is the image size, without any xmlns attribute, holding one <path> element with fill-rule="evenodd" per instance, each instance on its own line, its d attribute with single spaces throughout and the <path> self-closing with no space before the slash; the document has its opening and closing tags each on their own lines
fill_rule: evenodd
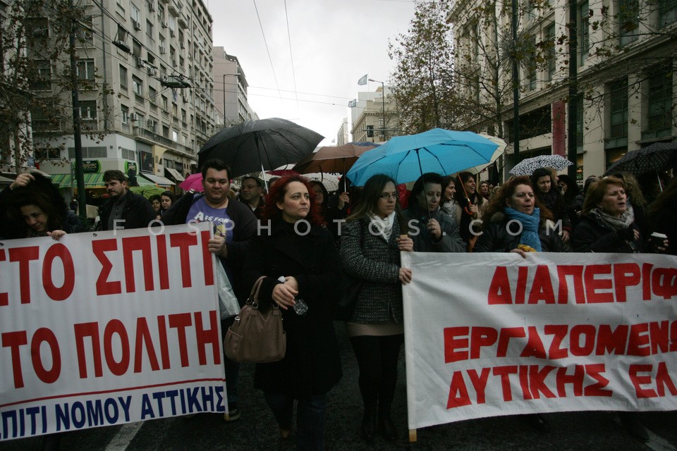
<svg viewBox="0 0 677 451">
<path fill-rule="evenodd" d="M 428 172 L 449 175 L 489 163 L 497 147 L 477 133 L 434 128 L 396 136 L 367 150 L 350 168 L 348 178 L 353 185 L 363 186 L 376 174 L 390 175 L 397 183 L 413 182 Z"/>
</svg>

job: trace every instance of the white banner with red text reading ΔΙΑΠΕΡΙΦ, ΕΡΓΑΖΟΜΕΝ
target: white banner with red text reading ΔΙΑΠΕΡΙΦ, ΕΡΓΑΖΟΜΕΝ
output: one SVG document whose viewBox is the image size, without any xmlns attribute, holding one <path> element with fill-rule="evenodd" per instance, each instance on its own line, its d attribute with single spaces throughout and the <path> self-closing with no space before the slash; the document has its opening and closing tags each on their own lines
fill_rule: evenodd
<svg viewBox="0 0 677 451">
<path fill-rule="evenodd" d="M 409 428 L 677 409 L 677 259 L 402 252 Z"/>
</svg>

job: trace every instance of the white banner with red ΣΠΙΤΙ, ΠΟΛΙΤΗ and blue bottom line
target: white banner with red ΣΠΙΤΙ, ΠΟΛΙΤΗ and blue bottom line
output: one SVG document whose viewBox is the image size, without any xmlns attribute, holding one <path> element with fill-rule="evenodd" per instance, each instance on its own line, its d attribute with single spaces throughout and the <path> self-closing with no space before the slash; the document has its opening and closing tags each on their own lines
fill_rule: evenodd
<svg viewBox="0 0 677 451">
<path fill-rule="evenodd" d="M 0 440 L 226 402 L 209 223 L 0 246 Z"/>
</svg>

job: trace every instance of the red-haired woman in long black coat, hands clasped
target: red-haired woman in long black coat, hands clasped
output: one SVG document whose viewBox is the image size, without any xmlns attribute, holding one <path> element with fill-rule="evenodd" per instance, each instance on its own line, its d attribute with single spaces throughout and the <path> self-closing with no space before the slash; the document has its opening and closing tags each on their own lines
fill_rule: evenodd
<svg viewBox="0 0 677 451">
<path fill-rule="evenodd" d="M 252 240 L 243 268 L 250 286 L 265 276 L 262 308 L 282 309 L 286 354 L 280 362 L 257 364 L 254 385 L 264 391 L 282 438 L 291 433 L 298 400 L 300 450 L 322 450 L 327 392 L 342 376 L 331 321 L 341 269 L 334 238 L 321 226 L 311 191 L 300 175 L 283 177 L 271 186 L 264 207 L 269 233 L 262 228 Z M 305 313 L 298 309 L 302 300 Z"/>
</svg>

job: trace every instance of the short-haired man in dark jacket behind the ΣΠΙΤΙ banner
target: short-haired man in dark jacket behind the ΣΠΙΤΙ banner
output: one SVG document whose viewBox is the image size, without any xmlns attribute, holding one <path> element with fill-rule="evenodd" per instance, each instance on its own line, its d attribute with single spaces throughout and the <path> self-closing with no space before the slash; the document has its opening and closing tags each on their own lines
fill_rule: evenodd
<svg viewBox="0 0 677 451">
<path fill-rule="evenodd" d="M 148 199 L 131 192 L 122 171 L 104 172 L 104 185 L 109 199 L 99 208 L 101 230 L 143 228 L 155 219 L 155 211 Z"/>
</svg>

